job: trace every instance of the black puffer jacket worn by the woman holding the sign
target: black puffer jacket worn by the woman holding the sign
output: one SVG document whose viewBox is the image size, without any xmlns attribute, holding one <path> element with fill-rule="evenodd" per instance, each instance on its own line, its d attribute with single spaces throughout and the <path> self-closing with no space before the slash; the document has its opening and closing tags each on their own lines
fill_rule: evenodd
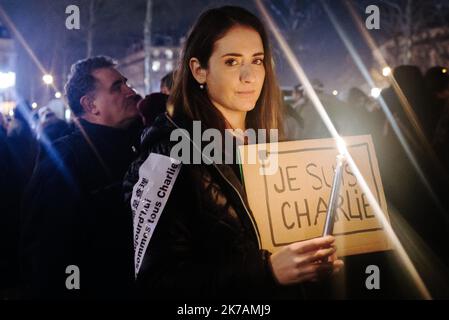
<svg viewBox="0 0 449 320">
<path fill-rule="evenodd" d="M 191 121 L 168 115 L 144 131 L 141 155 L 124 183 L 129 208 L 139 167 L 150 153 L 170 155 L 176 126 L 192 132 Z M 143 298 L 271 298 L 278 286 L 269 255 L 260 249 L 236 171 L 224 164 L 182 164 L 137 283 Z"/>
</svg>

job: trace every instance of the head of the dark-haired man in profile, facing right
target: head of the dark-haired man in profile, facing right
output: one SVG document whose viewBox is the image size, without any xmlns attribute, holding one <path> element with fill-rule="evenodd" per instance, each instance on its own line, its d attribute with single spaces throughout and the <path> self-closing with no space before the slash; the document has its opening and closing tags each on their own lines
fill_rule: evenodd
<svg viewBox="0 0 449 320">
<path fill-rule="evenodd" d="M 141 97 L 116 70 L 115 62 L 103 56 L 72 65 L 65 91 L 76 117 L 109 127 L 126 127 L 138 117 Z"/>
</svg>

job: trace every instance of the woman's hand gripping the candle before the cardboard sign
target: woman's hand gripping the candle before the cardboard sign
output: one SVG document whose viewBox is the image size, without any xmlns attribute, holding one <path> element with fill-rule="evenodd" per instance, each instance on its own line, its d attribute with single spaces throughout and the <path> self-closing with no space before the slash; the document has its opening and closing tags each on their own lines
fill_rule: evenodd
<svg viewBox="0 0 449 320">
<path fill-rule="evenodd" d="M 335 257 L 335 238 L 326 236 L 292 243 L 270 257 L 273 273 L 280 284 L 317 281 L 343 267 Z"/>
</svg>

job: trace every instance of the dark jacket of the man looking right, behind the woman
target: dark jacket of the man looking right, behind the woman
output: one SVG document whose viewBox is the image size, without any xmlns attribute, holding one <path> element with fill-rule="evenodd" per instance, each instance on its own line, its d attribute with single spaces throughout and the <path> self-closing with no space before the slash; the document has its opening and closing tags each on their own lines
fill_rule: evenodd
<svg viewBox="0 0 449 320">
<path fill-rule="evenodd" d="M 121 193 L 142 126 L 80 124 L 90 141 L 79 128 L 59 139 L 26 192 L 20 254 L 29 298 L 124 298 L 132 288 L 132 220 Z M 72 265 L 80 289 L 67 288 L 77 284 Z"/>
</svg>

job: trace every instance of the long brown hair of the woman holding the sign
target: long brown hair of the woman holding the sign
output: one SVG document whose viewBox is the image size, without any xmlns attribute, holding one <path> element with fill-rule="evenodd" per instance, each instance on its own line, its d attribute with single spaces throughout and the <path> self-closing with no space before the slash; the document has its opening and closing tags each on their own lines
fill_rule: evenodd
<svg viewBox="0 0 449 320">
<path fill-rule="evenodd" d="M 221 112 L 214 107 L 206 90 L 199 87 L 193 77 L 189 62 L 197 58 L 201 67 L 207 68 L 214 44 L 232 27 L 245 26 L 257 31 L 264 48 L 265 80 L 256 106 L 246 116 L 246 127 L 251 129 L 279 129 L 281 94 L 276 81 L 273 58 L 268 36 L 261 21 L 249 11 L 234 6 L 210 9 L 201 14 L 185 42 L 175 84 L 168 102 L 176 116 L 186 114 L 192 120 L 200 120 L 208 128 L 226 129 Z"/>
</svg>

